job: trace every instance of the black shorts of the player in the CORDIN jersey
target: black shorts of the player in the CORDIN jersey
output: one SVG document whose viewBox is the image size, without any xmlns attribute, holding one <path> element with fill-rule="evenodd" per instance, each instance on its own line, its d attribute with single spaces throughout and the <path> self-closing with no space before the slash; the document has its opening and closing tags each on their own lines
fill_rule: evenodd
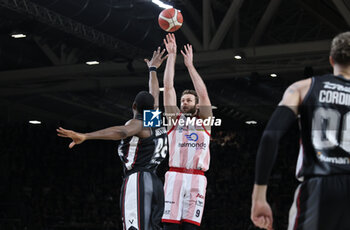
<svg viewBox="0 0 350 230">
<path fill-rule="evenodd" d="M 295 192 L 288 230 L 350 229 L 350 175 L 314 177 Z"/>
</svg>

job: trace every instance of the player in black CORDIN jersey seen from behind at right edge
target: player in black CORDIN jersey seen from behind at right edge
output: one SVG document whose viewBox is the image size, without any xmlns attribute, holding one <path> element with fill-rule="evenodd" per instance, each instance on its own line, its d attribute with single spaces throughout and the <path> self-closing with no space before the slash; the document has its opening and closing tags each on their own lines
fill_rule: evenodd
<svg viewBox="0 0 350 230">
<path fill-rule="evenodd" d="M 292 84 L 266 126 L 260 142 L 251 219 L 272 229 L 266 201 L 278 141 L 300 114 L 301 146 L 296 175 L 302 181 L 289 213 L 288 230 L 350 228 L 350 32 L 331 45 L 333 75 Z"/>
</svg>

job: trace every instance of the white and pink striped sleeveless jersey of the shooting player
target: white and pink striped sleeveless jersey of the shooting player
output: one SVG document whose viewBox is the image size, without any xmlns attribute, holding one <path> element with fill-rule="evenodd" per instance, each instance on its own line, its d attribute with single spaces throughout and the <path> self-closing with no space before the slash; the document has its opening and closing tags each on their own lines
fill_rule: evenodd
<svg viewBox="0 0 350 230">
<path fill-rule="evenodd" d="M 210 133 L 203 125 L 197 126 L 196 122 L 186 124 L 186 119 L 196 120 L 180 114 L 177 123 L 168 131 L 169 167 L 207 171 Z"/>
</svg>

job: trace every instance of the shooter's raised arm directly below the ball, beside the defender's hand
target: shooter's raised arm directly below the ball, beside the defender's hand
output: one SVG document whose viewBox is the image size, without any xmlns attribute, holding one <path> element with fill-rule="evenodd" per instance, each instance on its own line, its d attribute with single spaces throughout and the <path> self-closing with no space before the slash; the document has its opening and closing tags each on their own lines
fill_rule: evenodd
<svg viewBox="0 0 350 230">
<path fill-rule="evenodd" d="M 176 103 L 176 92 L 174 88 L 176 40 L 174 34 L 167 34 L 164 39 L 168 60 L 164 71 L 164 108 L 166 113 L 178 113 L 180 110 Z"/>
</svg>

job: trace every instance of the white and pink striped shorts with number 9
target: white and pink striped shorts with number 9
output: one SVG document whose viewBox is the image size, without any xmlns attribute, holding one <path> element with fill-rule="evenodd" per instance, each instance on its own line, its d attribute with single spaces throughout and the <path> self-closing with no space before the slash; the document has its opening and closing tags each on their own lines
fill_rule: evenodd
<svg viewBox="0 0 350 230">
<path fill-rule="evenodd" d="M 204 175 L 168 171 L 165 174 L 165 206 L 162 222 L 200 225 L 205 203 Z"/>
</svg>

